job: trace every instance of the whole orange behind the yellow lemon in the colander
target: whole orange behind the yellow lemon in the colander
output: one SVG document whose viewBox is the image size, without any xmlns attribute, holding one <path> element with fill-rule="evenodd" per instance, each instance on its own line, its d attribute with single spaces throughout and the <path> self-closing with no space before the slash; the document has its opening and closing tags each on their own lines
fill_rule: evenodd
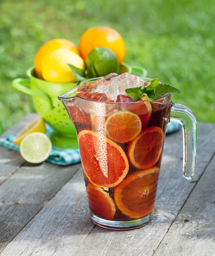
<svg viewBox="0 0 215 256">
<path fill-rule="evenodd" d="M 51 52 L 57 49 L 67 49 L 79 55 L 79 51 L 76 45 L 67 39 L 58 38 L 46 42 L 43 46 L 41 46 L 40 49 L 38 49 L 38 52 L 35 55 L 34 65 L 38 78 L 43 79 L 42 61 L 44 56 L 49 55 Z"/>
</svg>

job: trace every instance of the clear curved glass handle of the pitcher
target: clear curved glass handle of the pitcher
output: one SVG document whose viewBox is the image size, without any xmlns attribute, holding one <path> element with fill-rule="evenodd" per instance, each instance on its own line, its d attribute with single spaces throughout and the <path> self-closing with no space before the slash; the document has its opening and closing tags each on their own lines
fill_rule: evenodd
<svg viewBox="0 0 215 256">
<path fill-rule="evenodd" d="M 184 105 L 171 104 L 170 120 L 183 127 L 183 175 L 187 180 L 194 178 L 197 121 L 192 110 Z"/>
</svg>

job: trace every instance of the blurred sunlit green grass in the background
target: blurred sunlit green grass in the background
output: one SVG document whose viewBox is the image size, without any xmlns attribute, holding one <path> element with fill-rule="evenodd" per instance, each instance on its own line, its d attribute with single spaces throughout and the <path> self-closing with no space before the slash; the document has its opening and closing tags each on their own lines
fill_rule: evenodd
<svg viewBox="0 0 215 256">
<path fill-rule="evenodd" d="M 173 101 L 199 122 L 215 122 L 214 0 L 5 0 L 0 2 L 0 134 L 34 111 L 12 88 L 26 77 L 38 48 L 52 38 L 78 45 L 93 26 L 124 38 L 125 61 L 181 90 Z"/>
</svg>

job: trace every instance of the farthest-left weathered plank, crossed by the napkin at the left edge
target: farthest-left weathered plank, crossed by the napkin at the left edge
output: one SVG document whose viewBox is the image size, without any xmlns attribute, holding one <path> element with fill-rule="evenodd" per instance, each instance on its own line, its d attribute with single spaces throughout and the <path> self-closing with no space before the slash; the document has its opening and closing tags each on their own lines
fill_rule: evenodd
<svg viewBox="0 0 215 256">
<path fill-rule="evenodd" d="M 37 117 L 37 114 L 29 114 L 25 116 L 15 126 L 3 133 L 0 138 L 19 132 L 23 127 Z M 16 172 L 23 163 L 25 163 L 25 160 L 20 156 L 19 152 L 0 145 L 0 184 L 3 183 L 11 174 Z"/>
</svg>

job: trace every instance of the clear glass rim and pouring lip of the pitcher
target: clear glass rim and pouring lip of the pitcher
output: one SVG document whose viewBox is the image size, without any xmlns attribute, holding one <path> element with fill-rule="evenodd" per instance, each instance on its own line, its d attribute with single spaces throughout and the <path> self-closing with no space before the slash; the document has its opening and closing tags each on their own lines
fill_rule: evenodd
<svg viewBox="0 0 215 256">
<path fill-rule="evenodd" d="M 95 77 L 95 78 L 90 78 L 90 79 L 87 79 L 87 80 L 80 81 L 80 82 L 78 82 L 78 84 L 76 84 L 75 87 L 78 87 L 81 83 L 86 83 L 86 82 L 90 82 L 90 81 L 96 81 L 96 80 L 98 80 L 98 79 L 100 79 L 100 78 L 103 78 L 103 77 L 104 77 L 104 76 L 100 76 L 100 77 Z M 152 78 L 148 78 L 148 77 L 142 77 L 142 76 L 137 76 L 137 77 L 139 77 L 139 79 L 142 79 L 142 80 L 144 80 L 144 79 L 148 79 L 148 80 L 151 80 L 151 81 L 153 80 Z M 159 80 L 159 83 L 160 83 L 160 84 L 161 84 L 161 83 L 162 83 L 162 84 L 166 84 L 165 82 L 160 81 L 160 80 Z M 167 85 L 167 84 L 166 84 L 166 85 Z M 135 102 L 103 102 L 103 101 L 96 101 L 96 100 L 93 100 L 93 99 L 87 99 L 87 98 L 84 98 L 84 97 L 81 97 L 81 96 L 78 96 L 78 95 L 75 95 L 75 96 L 72 96 L 72 97 L 67 97 L 66 95 L 69 95 L 70 92 L 73 91 L 75 87 L 73 87 L 71 90 L 67 91 L 66 93 L 63 93 L 63 94 L 59 95 L 59 96 L 58 96 L 58 99 L 59 99 L 59 100 L 65 100 L 65 101 L 67 101 L 67 100 L 69 100 L 69 99 L 73 99 L 73 98 L 75 98 L 75 97 L 78 97 L 78 98 L 80 98 L 80 99 L 88 100 L 88 101 L 91 101 L 91 102 L 99 102 L 99 103 L 105 103 L 105 104 L 135 104 L 135 103 L 138 103 L 138 102 L 145 102 L 145 101 L 148 101 L 148 99 L 145 99 L 145 100 L 135 101 Z M 158 100 L 158 99 L 165 98 L 165 97 L 169 96 L 170 94 L 171 94 L 171 93 L 166 93 L 166 94 L 163 95 L 163 96 L 154 98 L 153 102 L 156 101 L 156 100 Z"/>
</svg>

